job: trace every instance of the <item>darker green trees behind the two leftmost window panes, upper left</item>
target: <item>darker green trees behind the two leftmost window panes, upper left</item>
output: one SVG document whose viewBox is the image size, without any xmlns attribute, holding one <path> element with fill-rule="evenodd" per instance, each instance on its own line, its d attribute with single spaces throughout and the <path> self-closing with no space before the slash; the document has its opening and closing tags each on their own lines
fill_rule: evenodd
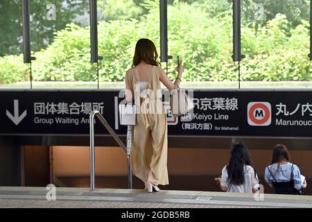
<svg viewBox="0 0 312 222">
<path fill-rule="evenodd" d="M 40 51 L 53 42 L 53 33 L 71 22 L 86 26 L 89 24 L 88 0 L 54 0 L 55 19 L 49 18 L 51 0 L 30 1 L 31 49 Z M 0 3 L 0 56 L 17 55 L 22 48 L 21 1 L 10 0 Z"/>
</svg>

